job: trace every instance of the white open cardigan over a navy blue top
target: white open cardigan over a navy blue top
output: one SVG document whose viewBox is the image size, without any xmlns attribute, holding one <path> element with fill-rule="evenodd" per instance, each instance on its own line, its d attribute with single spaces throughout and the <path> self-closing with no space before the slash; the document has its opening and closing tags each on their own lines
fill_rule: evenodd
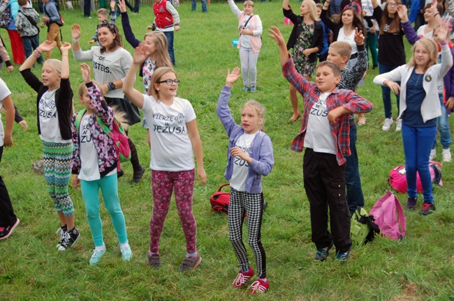
<svg viewBox="0 0 454 301">
<path fill-rule="evenodd" d="M 425 91 L 425 98 L 421 104 L 421 116 L 423 116 L 424 123 L 433 118 L 441 116 L 441 106 L 438 96 L 437 85 L 443 77 L 448 73 L 453 65 L 453 56 L 448 45 L 441 46 L 441 63 L 432 65 L 424 74 L 423 88 Z M 374 84 L 383 85 L 383 82 L 390 80 L 400 83 L 400 118 L 405 109 L 407 109 L 407 82 L 413 72 L 414 66 L 409 68 L 407 65 L 401 65 L 393 71 L 377 75 L 374 78 Z"/>
</svg>

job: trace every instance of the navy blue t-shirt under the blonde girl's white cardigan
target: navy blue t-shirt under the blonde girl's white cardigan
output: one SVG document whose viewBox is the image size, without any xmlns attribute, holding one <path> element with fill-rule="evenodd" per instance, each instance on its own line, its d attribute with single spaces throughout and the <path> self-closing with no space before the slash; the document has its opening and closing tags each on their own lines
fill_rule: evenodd
<svg viewBox="0 0 454 301">
<path fill-rule="evenodd" d="M 425 98 L 423 88 L 424 75 L 417 74 L 413 69 L 407 82 L 407 109 L 402 115 L 402 123 L 413 128 L 430 128 L 437 126 L 437 118 L 430 119 L 426 123 L 421 116 L 421 105 Z"/>
</svg>

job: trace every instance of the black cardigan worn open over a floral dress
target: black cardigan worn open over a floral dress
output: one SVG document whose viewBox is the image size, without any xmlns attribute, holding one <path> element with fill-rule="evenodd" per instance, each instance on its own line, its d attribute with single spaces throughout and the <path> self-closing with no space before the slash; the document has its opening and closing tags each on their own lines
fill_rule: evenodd
<svg viewBox="0 0 454 301">
<path fill-rule="evenodd" d="M 284 13 L 285 17 L 288 17 L 291 22 L 293 22 L 293 29 L 290 34 L 290 38 L 288 38 L 287 42 L 287 50 L 293 48 L 296 43 L 296 39 L 298 36 L 300 36 L 300 33 L 302 31 L 302 23 L 303 23 L 303 17 L 301 15 L 295 15 L 291 9 L 286 10 L 282 8 L 282 12 Z M 318 53 L 320 53 L 323 50 L 324 46 L 324 41 L 323 41 L 323 25 L 318 22 L 314 21 L 314 38 L 312 38 L 311 42 L 311 48 L 318 47 Z M 309 54 L 309 61 L 311 63 L 314 63 L 314 61 L 317 61 L 317 53 L 313 52 L 312 54 Z"/>
</svg>

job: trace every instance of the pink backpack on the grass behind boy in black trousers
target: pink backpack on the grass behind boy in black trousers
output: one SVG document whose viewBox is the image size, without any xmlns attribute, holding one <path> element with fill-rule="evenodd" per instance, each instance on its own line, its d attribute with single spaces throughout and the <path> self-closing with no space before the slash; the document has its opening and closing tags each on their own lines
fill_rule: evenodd
<svg viewBox="0 0 454 301">
<path fill-rule="evenodd" d="M 397 215 L 396 215 L 397 211 Z M 369 215 L 373 215 L 380 233 L 392 240 L 402 240 L 405 236 L 405 215 L 397 197 L 386 190 L 386 194 L 376 201 Z"/>
</svg>

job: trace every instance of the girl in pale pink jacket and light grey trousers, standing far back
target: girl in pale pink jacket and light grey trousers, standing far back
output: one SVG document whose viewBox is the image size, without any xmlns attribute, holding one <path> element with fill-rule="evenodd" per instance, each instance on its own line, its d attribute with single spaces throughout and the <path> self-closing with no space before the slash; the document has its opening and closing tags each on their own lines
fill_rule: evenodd
<svg viewBox="0 0 454 301">
<path fill-rule="evenodd" d="M 261 34 L 263 31 L 262 20 L 254 15 L 254 2 L 247 0 L 243 3 L 241 11 L 233 0 L 228 0 L 228 5 L 238 18 L 238 49 L 240 49 L 241 72 L 243 75 L 243 91 L 256 91 L 257 59 L 262 47 Z"/>
</svg>

